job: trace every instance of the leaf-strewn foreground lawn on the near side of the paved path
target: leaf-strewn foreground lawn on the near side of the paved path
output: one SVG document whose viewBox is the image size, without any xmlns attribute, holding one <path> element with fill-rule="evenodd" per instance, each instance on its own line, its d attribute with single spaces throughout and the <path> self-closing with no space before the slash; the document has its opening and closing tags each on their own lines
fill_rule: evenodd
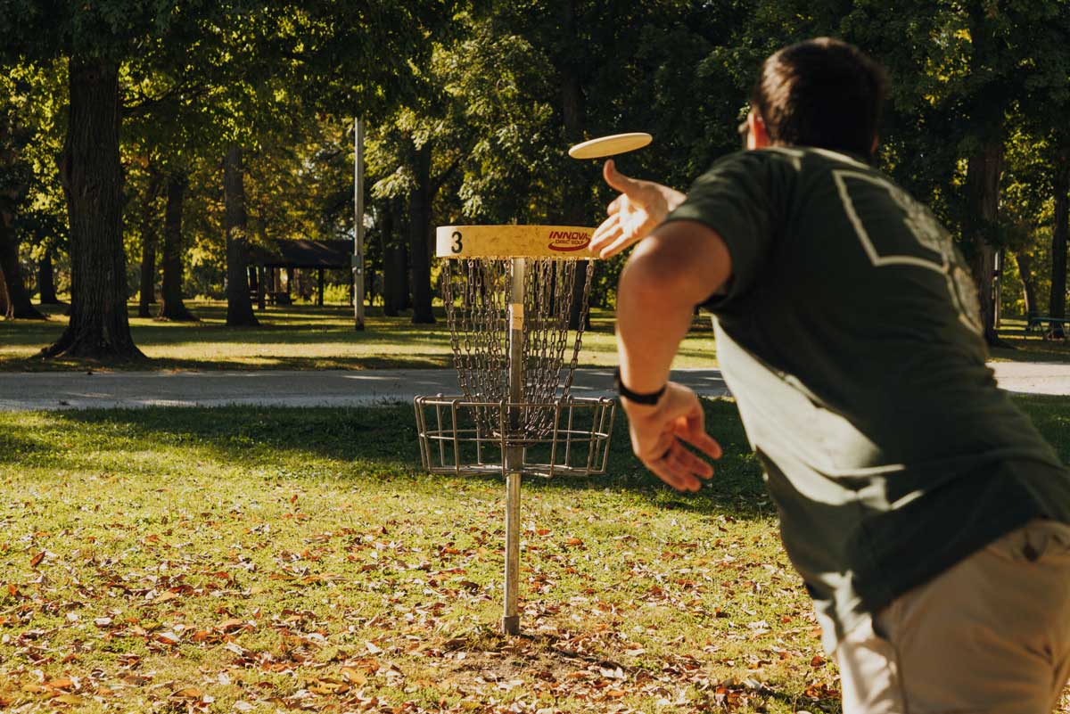
<svg viewBox="0 0 1070 714">
<path fill-rule="evenodd" d="M 1070 459 L 1065 400 L 1019 402 Z M 735 406 L 707 413 L 700 494 L 623 420 L 609 475 L 525 483 L 516 638 L 501 479 L 422 472 L 408 406 L 0 414 L 0 709 L 839 711 Z"/>
</svg>

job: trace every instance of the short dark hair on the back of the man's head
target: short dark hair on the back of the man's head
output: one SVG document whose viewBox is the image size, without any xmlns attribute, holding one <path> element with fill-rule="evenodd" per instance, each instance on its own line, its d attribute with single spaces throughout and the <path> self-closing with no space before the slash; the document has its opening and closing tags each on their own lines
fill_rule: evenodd
<svg viewBox="0 0 1070 714">
<path fill-rule="evenodd" d="M 774 143 L 869 156 L 887 81 L 884 67 L 854 45 L 817 37 L 769 57 L 750 103 Z"/>
</svg>

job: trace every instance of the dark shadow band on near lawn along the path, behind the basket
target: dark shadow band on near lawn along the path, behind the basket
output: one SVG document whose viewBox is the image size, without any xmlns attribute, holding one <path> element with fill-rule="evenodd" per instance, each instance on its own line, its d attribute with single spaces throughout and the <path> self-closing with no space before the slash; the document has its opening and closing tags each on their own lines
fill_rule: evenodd
<svg viewBox="0 0 1070 714">
<path fill-rule="evenodd" d="M 72 410 L 46 413 L 48 431 L 77 435 L 101 451 L 144 449 L 197 449 L 220 464 L 245 464 L 280 470 L 286 478 L 303 478 L 301 463 L 330 460 L 341 478 L 410 480 L 414 485 L 449 488 L 458 480 L 486 484 L 501 477 L 456 477 L 424 472 L 419 461 L 415 418 L 408 404 L 368 408 L 216 407 Z M 9 418 L 9 434 L 26 444 L 52 444 L 48 434 L 19 434 L 17 420 Z M 0 420 L 3 423 L 3 420 Z M 633 493 L 660 508 L 731 512 L 742 517 L 773 514 L 751 455 L 735 404 L 724 400 L 706 403 L 706 423 L 720 440 L 724 456 L 715 464 L 715 477 L 698 494 L 681 494 L 663 485 L 636 460 L 623 416 L 616 419 L 609 457 L 609 474 L 601 477 L 556 477 L 525 480 L 526 491 L 601 491 Z M 40 431 L 40 423 L 36 426 Z M 116 438 L 120 435 L 120 438 Z M 33 438 L 30 438 L 33 437 Z M 59 447 L 24 452 L 30 463 L 54 468 L 83 466 Z M 198 456 L 200 459 L 201 456 Z M 296 462 L 297 467 L 293 464 Z M 322 464 L 308 468 L 311 478 Z"/>
</svg>

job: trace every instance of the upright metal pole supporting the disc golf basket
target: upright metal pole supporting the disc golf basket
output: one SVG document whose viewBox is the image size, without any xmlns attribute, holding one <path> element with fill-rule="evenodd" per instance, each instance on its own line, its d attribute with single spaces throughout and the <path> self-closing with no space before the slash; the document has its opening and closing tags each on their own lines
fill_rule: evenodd
<svg viewBox="0 0 1070 714">
<path fill-rule="evenodd" d="M 517 607 L 520 592 L 520 468 L 524 448 L 515 446 L 520 432 L 520 408 L 524 385 L 524 259 L 513 259 L 509 285 L 509 436 L 502 470 L 505 471 L 505 611 L 502 631 L 520 633 Z"/>
</svg>

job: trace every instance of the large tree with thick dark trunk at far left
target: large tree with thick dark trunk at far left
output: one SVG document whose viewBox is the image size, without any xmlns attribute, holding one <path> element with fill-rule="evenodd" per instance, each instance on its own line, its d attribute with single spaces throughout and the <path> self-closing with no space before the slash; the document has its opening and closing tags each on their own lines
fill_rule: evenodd
<svg viewBox="0 0 1070 714">
<path fill-rule="evenodd" d="M 45 356 L 128 360 L 142 355 L 126 313 L 123 250 L 123 119 L 120 74 L 143 57 L 151 37 L 178 49 L 194 44 L 219 4 L 180 9 L 156 0 L 0 0 L 0 50 L 14 62 L 67 63 L 70 108 L 60 175 L 71 228 L 71 322 Z"/>
</svg>

